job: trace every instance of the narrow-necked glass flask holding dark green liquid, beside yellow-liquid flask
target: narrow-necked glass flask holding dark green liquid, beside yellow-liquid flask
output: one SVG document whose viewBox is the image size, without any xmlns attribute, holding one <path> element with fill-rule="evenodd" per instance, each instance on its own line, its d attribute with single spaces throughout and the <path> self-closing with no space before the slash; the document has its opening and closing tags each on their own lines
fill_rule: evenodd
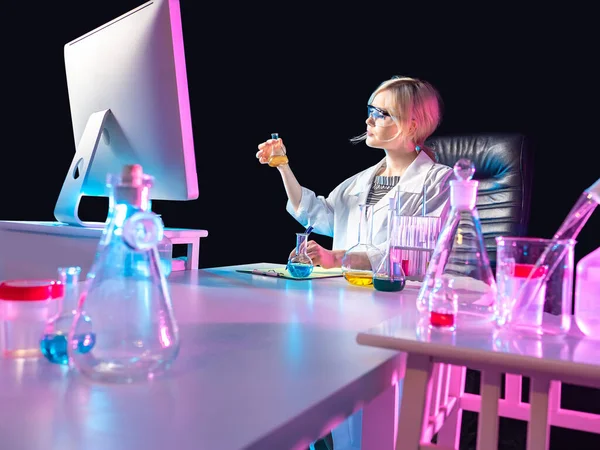
<svg viewBox="0 0 600 450">
<path fill-rule="evenodd" d="M 373 287 L 378 291 L 398 292 L 406 285 L 406 274 L 402 270 L 400 249 L 400 213 L 396 198 L 390 198 L 388 210 L 387 250 L 381 264 L 373 274 Z"/>
</svg>

